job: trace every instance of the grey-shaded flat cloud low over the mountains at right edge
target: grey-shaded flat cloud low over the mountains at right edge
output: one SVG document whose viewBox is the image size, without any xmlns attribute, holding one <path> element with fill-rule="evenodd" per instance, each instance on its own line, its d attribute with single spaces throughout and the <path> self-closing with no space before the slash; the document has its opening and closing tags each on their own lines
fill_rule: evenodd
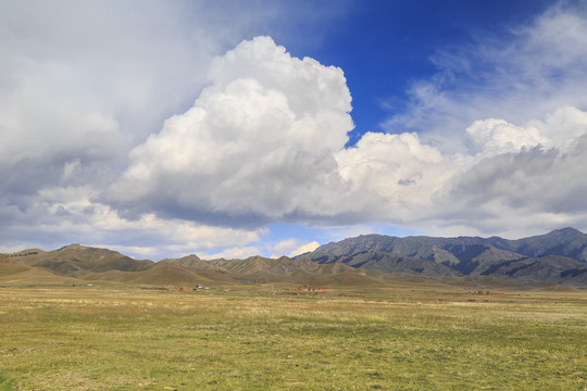
<svg viewBox="0 0 587 391">
<path fill-rule="evenodd" d="M 475 160 L 455 176 L 440 205 L 444 224 L 520 235 L 586 226 L 587 128 L 563 148 L 538 146 Z M 458 201 L 458 204 L 454 201 Z M 475 216 L 482 218 L 475 218 Z"/>
</svg>

